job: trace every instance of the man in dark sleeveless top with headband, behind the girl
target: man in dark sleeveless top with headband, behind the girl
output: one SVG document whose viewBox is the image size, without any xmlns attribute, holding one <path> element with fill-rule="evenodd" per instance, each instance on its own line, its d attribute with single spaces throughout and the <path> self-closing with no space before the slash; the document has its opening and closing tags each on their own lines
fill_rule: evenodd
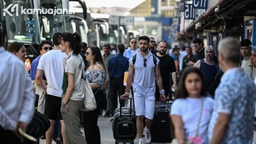
<svg viewBox="0 0 256 144">
<path fill-rule="evenodd" d="M 208 92 L 210 85 L 212 85 L 217 75 L 218 64 L 213 61 L 214 49 L 212 46 L 207 46 L 205 49 L 205 58 L 200 59 L 195 63 L 194 67 L 200 69 L 204 76 L 205 90 Z"/>
</svg>

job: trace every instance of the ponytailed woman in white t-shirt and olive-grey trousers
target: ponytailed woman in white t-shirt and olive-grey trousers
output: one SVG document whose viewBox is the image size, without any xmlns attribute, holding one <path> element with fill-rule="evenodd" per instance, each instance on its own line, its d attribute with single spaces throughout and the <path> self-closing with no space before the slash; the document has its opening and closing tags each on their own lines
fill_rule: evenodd
<svg viewBox="0 0 256 144">
<path fill-rule="evenodd" d="M 80 131 L 80 109 L 83 106 L 83 90 L 85 81 L 83 78 L 85 64 L 81 50 L 81 37 L 78 33 L 61 33 L 59 35 L 59 48 L 68 56 L 64 59 L 66 63 L 63 71 L 63 100 L 61 104 L 61 115 L 65 124 L 66 144 L 86 143 L 82 131 Z"/>
</svg>

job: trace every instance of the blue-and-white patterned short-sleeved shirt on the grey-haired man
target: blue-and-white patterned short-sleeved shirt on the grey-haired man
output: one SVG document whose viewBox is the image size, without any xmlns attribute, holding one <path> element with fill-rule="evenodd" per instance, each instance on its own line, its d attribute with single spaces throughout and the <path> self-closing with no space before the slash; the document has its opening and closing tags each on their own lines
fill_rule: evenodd
<svg viewBox="0 0 256 144">
<path fill-rule="evenodd" d="M 252 77 L 241 68 L 232 68 L 224 73 L 214 97 L 214 111 L 209 124 L 209 140 L 219 112 L 229 114 L 228 129 L 221 143 L 251 144 L 255 112 L 256 87 Z"/>
</svg>

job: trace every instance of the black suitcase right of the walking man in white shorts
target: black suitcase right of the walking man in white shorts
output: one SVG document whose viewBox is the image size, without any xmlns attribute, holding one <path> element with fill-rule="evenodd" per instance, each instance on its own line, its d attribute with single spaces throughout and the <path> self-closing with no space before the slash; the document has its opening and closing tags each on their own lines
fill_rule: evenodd
<svg viewBox="0 0 256 144">
<path fill-rule="evenodd" d="M 171 143 L 174 138 L 174 127 L 171 123 L 171 103 L 155 103 L 154 121 L 150 128 L 152 143 Z"/>
</svg>

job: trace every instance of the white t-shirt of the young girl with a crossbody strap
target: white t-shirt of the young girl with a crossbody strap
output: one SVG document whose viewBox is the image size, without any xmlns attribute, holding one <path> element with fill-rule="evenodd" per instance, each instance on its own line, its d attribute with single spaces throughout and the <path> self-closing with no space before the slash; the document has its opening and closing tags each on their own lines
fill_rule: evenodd
<svg viewBox="0 0 256 144">
<path fill-rule="evenodd" d="M 176 99 L 171 105 L 171 115 L 181 116 L 184 124 L 185 136 L 188 140 L 193 141 L 197 123 L 201 111 L 201 98 Z M 210 117 L 212 116 L 214 100 L 210 97 L 204 97 L 204 107 L 202 117 L 198 127 L 198 136 L 195 139 L 195 144 L 208 143 L 207 131 Z"/>
</svg>

